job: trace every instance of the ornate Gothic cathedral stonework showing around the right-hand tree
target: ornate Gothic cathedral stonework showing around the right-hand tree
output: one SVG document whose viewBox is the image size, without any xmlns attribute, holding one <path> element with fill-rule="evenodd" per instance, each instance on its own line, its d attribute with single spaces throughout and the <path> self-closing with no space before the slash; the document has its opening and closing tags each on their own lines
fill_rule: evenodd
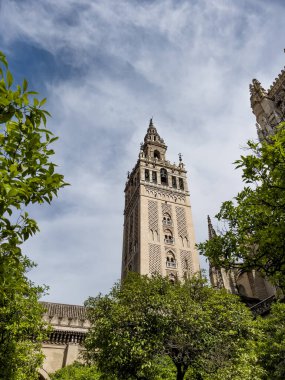
<svg viewBox="0 0 285 380">
<path fill-rule="evenodd" d="M 256 118 L 257 135 L 260 141 L 274 133 L 275 127 L 285 120 L 285 70 L 275 78 L 268 90 L 257 79 L 249 85 L 250 104 Z M 215 230 L 208 217 L 209 239 Z M 210 263 L 210 280 L 214 287 L 225 288 L 233 294 L 240 295 L 252 306 L 256 314 L 263 314 L 270 309 L 275 298 L 276 289 L 256 270 L 240 272 L 237 269 L 226 271 Z"/>
</svg>

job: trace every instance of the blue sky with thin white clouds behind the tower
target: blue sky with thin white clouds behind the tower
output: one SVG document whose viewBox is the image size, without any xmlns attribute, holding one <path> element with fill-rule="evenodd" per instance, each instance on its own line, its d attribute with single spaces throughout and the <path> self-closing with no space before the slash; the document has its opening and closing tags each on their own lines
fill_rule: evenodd
<svg viewBox="0 0 285 380">
<path fill-rule="evenodd" d="M 41 232 L 24 251 L 46 300 L 81 304 L 119 279 L 126 173 L 152 116 L 168 159 L 183 154 L 207 238 L 207 214 L 242 186 L 232 162 L 256 138 L 249 83 L 268 88 L 284 66 L 284 16 L 282 0 L 0 0 L 0 49 L 16 81 L 48 98 L 71 184 L 30 210 Z"/>
</svg>

